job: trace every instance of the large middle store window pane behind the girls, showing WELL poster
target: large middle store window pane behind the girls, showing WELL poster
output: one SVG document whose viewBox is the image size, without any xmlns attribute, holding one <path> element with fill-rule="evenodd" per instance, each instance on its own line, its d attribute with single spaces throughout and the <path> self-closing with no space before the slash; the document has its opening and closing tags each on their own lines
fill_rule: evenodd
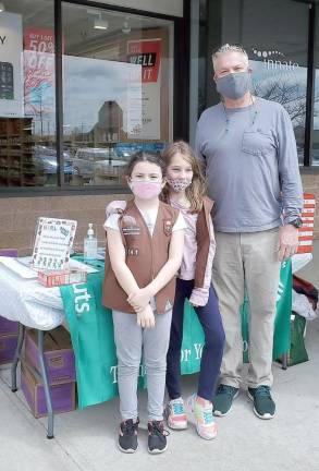
<svg viewBox="0 0 319 471">
<path fill-rule="evenodd" d="M 63 3 L 63 136 L 72 185 L 121 185 L 172 140 L 173 24 Z"/>
</svg>

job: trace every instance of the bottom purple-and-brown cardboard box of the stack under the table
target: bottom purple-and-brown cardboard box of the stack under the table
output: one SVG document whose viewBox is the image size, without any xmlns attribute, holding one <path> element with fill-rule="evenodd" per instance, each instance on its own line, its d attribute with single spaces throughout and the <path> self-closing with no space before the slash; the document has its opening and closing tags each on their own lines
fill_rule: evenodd
<svg viewBox="0 0 319 471">
<path fill-rule="evenodd" d="M 35 418 L 46 416 L 47 404 L 41 379 L 32 372 L 27 363 L 21 363 L 21 388 Z M 54 413 L 70 412 L 75 409 L 75 383 L 63 383 L 50 386 L 52 409 Z"/>
</svg>

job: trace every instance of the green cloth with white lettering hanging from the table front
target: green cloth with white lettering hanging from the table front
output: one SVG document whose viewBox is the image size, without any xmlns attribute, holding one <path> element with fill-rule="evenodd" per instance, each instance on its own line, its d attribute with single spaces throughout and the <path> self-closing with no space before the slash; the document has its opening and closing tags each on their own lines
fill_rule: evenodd
<svg viewBox="0 0 319 471">
<path fill-rule="evenodd" d="M 98 271 L 88 275 L 86 283 L 60 288 L 75 353 L 79 409 L 103 402 L 118 395 L 112 315 L 111 311 L 101 305 L 103 264 L 97 262 L 96 267 Z M 291 262 L 287 262 L 281 268 L 274 327 L 274 359 L 286 352 L 290 347 L 291 298 Z M 248 316 L 246 299 L 242 309 L 245 361 L 248 349 Z M 199 371 L 204 335 L 197 316 L 187 302 L 183 335 L 182 374 L 196 373 Z M 139 386 L 144 387 L 146 377 L 143 365 L 139 379 Z"/>
</svg>

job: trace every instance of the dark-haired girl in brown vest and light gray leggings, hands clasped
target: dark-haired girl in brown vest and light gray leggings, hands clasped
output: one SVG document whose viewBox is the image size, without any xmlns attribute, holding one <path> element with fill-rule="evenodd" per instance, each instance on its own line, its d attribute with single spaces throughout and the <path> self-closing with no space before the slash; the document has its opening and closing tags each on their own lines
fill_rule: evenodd
<svg viewBox="0 0 319 471">
<path fill-rule="evenodd" d="M 127 183 L 134 198 L 107 208 L 109 263 L 103 305 L 112 310 L 122 422 L 119 447 L 134 452 L 137 443 L 137 379 L 143 352 L 148 389 L 148 451 L 167 449 L 163 426 L 165 357 L 169 347 L 175 275 L 183 256 L 183 216 L 159 201 L 164 164 L 152 153 L 131 159 Z"/>
</svg>

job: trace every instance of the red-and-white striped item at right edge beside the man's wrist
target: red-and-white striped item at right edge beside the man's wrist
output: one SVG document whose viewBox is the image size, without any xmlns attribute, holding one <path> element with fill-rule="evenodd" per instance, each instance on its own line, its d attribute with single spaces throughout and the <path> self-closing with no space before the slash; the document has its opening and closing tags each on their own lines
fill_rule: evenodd
<svg viewBox="0 0 319 471">
<path fill-rule="evenodd" d="M 304 193 L 304 208 L 302 213 L 303 227 L 299 231 L 299 246 L 297 253 L 309 253 L 314 250 L 314 224 L 316 213 L 315 195 Z"/>
</svg>

